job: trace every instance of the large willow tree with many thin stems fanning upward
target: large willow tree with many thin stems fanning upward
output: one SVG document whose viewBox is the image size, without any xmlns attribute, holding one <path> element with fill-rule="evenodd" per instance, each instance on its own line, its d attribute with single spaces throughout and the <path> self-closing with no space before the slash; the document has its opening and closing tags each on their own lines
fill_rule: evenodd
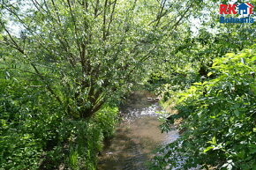
<svg viewBox="0 0 256 170">
<path fill-rule="evenodd" d="M 1 0 L 1 46 L 74 118 L 129 89 L 194 2 Z M 18 29 L 19 27 L 19 29 Z M 16 31 L 15 31 L 16 30 Z M 12 68 L 14 69 L 14 68 Z"/>
</svg>

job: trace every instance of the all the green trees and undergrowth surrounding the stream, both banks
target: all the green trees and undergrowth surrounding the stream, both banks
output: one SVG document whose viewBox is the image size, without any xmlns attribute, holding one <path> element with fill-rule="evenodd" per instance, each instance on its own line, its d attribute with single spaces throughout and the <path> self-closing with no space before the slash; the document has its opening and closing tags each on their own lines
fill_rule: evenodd
<svg viewBox="0 0 256 170">
<path fill-rule="evenodd" d="M 138 85 L 181 122 L 151 169 L 255 169 L 256 22 L 221 3 L 0 0 L 0 169 L 96 169 Z"/>
</svg>

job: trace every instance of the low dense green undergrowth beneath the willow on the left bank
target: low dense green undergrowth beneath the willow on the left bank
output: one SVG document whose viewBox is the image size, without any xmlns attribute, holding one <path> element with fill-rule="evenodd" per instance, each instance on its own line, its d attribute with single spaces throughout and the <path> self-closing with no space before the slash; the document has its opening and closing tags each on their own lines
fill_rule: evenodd
<svg viewBox="0 0 256 170">
<path fill-rule="evenodd" d="M 74 120 L 44 88 L 4 78 L 0 86 L 0 169 L 95 169 L 103 138 L 114 132 L 117 107 Z"/>
</svg>

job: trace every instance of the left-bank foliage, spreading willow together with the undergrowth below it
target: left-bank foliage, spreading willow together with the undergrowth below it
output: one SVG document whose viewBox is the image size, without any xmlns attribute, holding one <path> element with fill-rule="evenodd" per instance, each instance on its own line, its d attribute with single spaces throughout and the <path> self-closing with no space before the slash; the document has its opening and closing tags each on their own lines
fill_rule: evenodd
<svg viewBox="0 0 256 170">
<path fill-rule="evenodd" d="M 0 168 L 95 169 L 119 97 L 196 8 L 178 4 L 1 0 Z"/>
</svg>

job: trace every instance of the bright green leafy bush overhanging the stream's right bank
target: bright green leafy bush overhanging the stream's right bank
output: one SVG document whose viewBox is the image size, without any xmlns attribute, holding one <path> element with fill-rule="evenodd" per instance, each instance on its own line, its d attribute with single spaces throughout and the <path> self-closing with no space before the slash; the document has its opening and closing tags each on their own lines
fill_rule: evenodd
<svg viewBox="0 0 256 170">
<path fill-rule="evenodd" d="M 180 94 L 170 121 L 183 118 L 184 133 L 156 157 L 162 167 L 256 168 L 256 46 L 216 58 L 212 69 L 215 78 Z"/>
</svg>

